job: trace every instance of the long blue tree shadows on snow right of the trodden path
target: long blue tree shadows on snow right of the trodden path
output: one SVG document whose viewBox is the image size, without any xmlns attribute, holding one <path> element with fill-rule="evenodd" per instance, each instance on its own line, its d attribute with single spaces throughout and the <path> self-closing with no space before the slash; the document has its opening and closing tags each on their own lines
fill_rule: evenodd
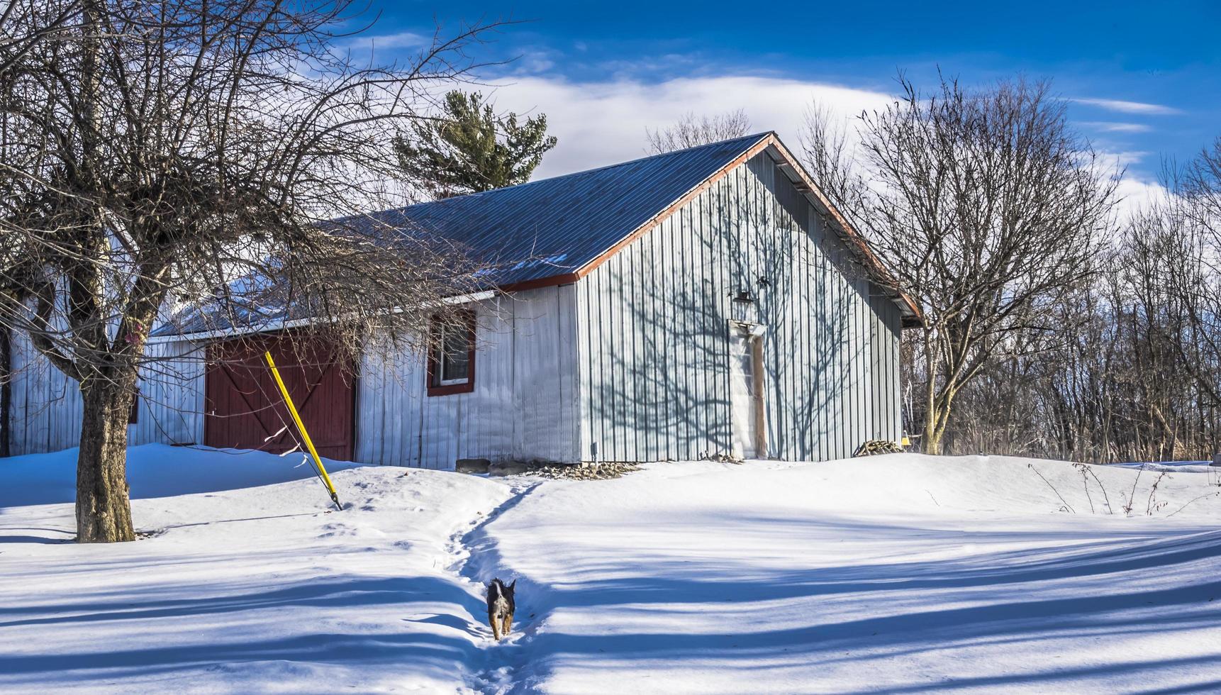
<svg viewBox="0 0 1221 695">
<path fill-rule="evenodd" d="M 734 519 L 723 518 L 720 523 L 733 524 Z M 612 620 L 615 616 L 639 614 L 659 625 L 661 631 L 597 634 L 595 627 L 585 634 L 570 634 L 552 628 L 532 635 L 526 649 L 537 662 L 535 672 L 543 678 L 559 662 L 578 668 L 598 664 L 613 677 L 615 669 L 626 672 L 642 661 L 778 673 L 794 669 L 802 674 L 811 666 L 846 661 L 888 671 L 896 663 L 889 661 L 894 657 L 943 650 L 1018 645 L 1043 653 L 1038 651 L 1042 640 L 1114 640 L 1121 635 L 1208 629 L 1221 622 L 1221 580 L 1212 580 L 1221 569 L 1221 531 L 1186 534 L 1183 529 L 1143 529 L 1127 541 L 1100 544 L 1095 534 L 1093 544 L 1066 547 L 1045 544 L 954 559 L 775 570 L 725 557 L 686 555 L 687 559 L 678 561 L 667 556 L 665 548 L 641 548 L 632 555 L 634 564 L 625 568 L 609 551 L 602 562 L 596 557 L 598 551 L 591 548 L 580 563 L 580 577 L 591 579 L 552 589 L 546 595 L 548 605 L 541 609 L 568 611 L 570 619 L 574 614 L 608 616 Z M 1188 563 L 1204 562 L 1211 568 L 1197 564 L 1184 570 Z M 1176 574 L 1177 580 L 1160 580 Z M 597 579 L 600 575 L 609 578 Z M 1035 586 L 1029 592 L 1017 586 L 1057 581 L 1067 584 Z M 929 594 L 928 600 L 916 600 L 921 594 Z M 807 601 L 779 607 L 759 603 L 800 599 Z M 867 614 L 851 617 L 853 602 L 866 607 Z M 723 618 L 708 631 L 665 631 L 672 618 L 683 624 L 687 616 L 716 617 L 709 612 L 717 611 Z M 759 630 L 757 620 L 769 611 L 808 614 L 767 617 L 768 622 L 800 627 Z M 1096 667 L 1066 668 L 1055 666 L 1054 655 L 1044 656 L 1029 660 L 1017 672 L 996 668 L 989 673 L 990 666 L 984 663 L 976 664 L 973 675 L 966 679 L 941 675 L 923 680 L 928 673 L 922 673 L 912 674 L 911 683 L 904 684 L 906 679 L 900 675 L 899 684 L 879 686 L 916 693 L 1074 679 L 1123 683 L 1139 672 L 1165 672 L 1165 682 L 1139 682 L 1155 686 L 1187 678 L 1182 669 L 1208 671 L 1204 666 L 1215 662 L 1221 652 L 1181 658 L 1150 655 L 1140 661 L 1121 661 L 1115 655 L 1114 661 L 1105 660 Z M 1212 685 L 1192 684 L 1197 689 Z"/>
</svg>

